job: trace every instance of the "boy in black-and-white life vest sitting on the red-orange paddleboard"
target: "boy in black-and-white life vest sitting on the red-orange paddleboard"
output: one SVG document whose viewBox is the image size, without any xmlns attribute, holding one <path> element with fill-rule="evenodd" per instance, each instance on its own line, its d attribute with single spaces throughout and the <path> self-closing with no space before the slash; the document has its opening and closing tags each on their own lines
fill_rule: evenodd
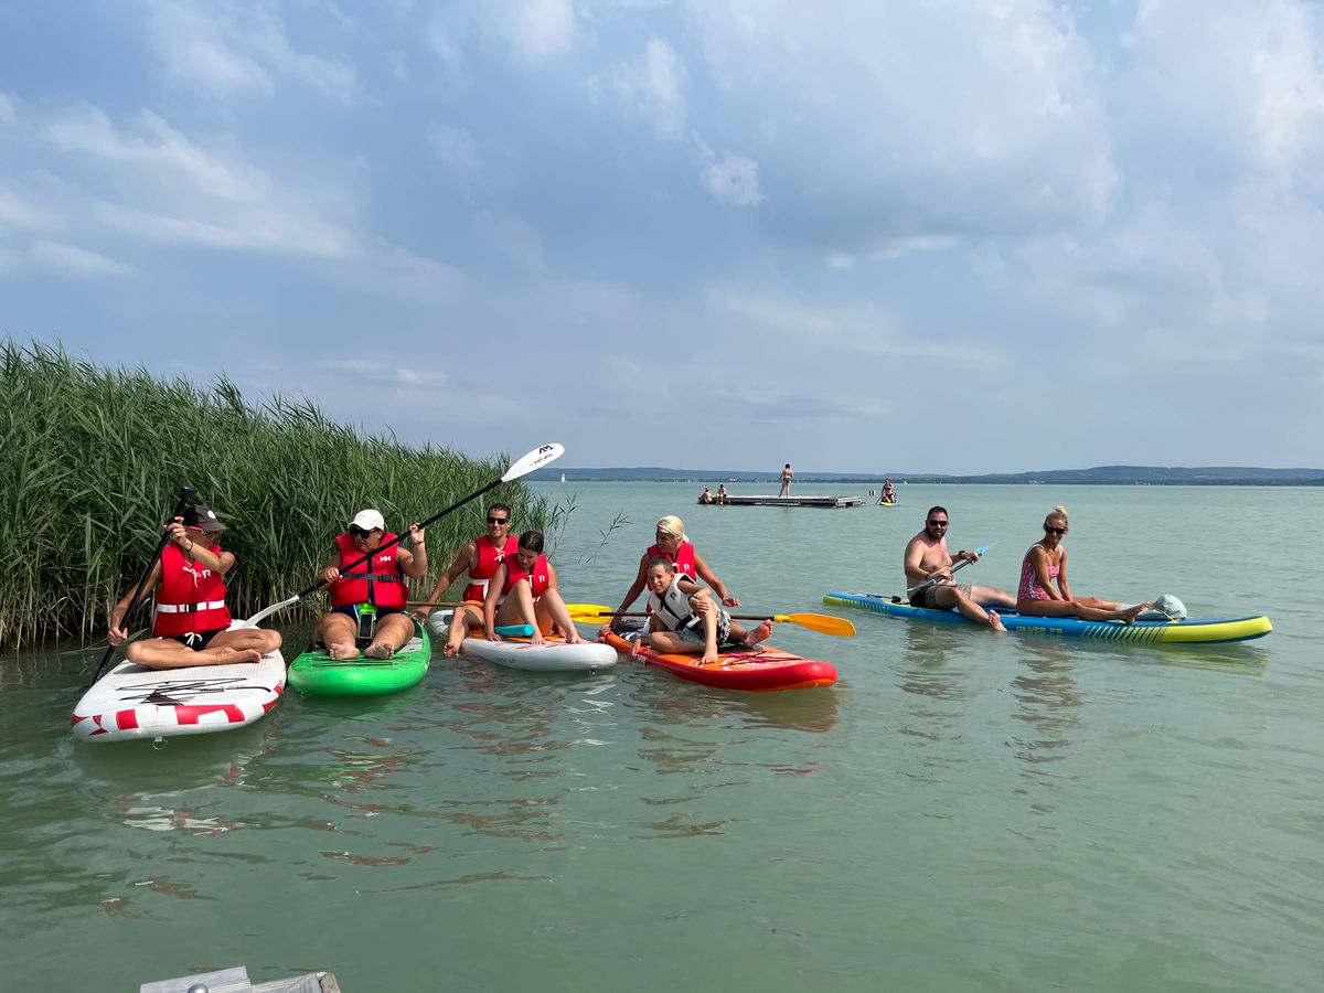
<svg viewBox="0 0 1324 993">
<path fill-rule="evenodd" d="M 666 556 L 657 556 L 647 565 L 649 633 L 634 642 L 636 650 L 647 643 L 655 651 L 698 655 L 711 663 L 718 661 L 718 646 L 739 642 L 752 649 L 772 634 L 772 621 L 747 630 L 731 614 L 712 602 L 712 592 L 678 572 Z M 605 633 L 610 628 L 602 628 Z"/>
</svg>

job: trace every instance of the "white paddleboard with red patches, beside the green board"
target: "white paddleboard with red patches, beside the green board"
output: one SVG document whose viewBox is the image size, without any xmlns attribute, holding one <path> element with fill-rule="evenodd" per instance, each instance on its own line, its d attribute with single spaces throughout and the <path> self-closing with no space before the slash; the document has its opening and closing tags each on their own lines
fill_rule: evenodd
<svg viewBox="0 0 1324 993">
<path fill-rule="evenodd" d="M 205 735 L 252 724 L 283 691 L 279 651 L 233 666 L 146 669 L 120 662 L 83 694 L 69 723 L 86 741 Z"/>
</svg>

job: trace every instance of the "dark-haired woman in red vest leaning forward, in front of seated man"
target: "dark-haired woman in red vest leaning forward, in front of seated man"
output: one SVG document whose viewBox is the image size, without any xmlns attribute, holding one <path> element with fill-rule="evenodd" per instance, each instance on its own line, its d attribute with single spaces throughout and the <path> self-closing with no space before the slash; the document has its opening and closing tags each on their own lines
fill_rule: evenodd
<svg viewBox="0 0 1324 993">
<path fill-rule="evenodd" d="M 459 651 L 465 634 L 478 626 L 483 628 L 487 641 L 502 641 L 496 633 L 498 626 L 523 624 L 532 626 L 530 642 L 534 645 L 542 645 L 543 633 L 551 632 L 553 626 L 567 645 L 583 641 L 557 589 L 556 569 L 543 555 L 543 532 L 526 531 L 519 536 L 518 548 L 514 556 L 500 561 L 487 584 L 482 616 L 475 617 L 471 610 L 458 609 L 450 618 L 444 653 L 446 658 Z"/>
</svg>

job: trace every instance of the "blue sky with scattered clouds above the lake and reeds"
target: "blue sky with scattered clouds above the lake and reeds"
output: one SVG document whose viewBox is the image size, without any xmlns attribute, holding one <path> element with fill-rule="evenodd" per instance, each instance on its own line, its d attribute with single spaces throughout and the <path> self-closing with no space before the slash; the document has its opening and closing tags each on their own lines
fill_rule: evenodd
<svg viewBox="0 0 1324 993">
<path fill-rule="evenodd" d="M 1317 0 L 0 3 L 0 338 L 565 466 L 1324 466 Z"/>
</svg>

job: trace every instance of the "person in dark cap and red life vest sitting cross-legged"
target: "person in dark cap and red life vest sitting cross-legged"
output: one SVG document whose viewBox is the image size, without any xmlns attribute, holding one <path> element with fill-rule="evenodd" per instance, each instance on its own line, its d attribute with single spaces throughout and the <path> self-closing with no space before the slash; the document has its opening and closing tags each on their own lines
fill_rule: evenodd
<svg viewBox="0 0 1324 993">
<path fill-rule="evenodd" d="M 225 605 L 224 576 L 234 567 L 234 553 L 208 538 L 224 530 L 225 524 L 201 503 L 185 507 L 183 516 L 166 526 L 169 540 L 147 576 L 147 589 L 156 591 L 152 637 L 130 643 L 124 650 L 130 662 L 148 669 L 222 666 L 261 662 L 262 655 L 281 647 L 279 632 L 226 630 L 233 618 Z M 138 588 L 131 588 L 111 609 L 111 645 L 128 637 L 122 625 L 136 594 Z"/>
</svg>

